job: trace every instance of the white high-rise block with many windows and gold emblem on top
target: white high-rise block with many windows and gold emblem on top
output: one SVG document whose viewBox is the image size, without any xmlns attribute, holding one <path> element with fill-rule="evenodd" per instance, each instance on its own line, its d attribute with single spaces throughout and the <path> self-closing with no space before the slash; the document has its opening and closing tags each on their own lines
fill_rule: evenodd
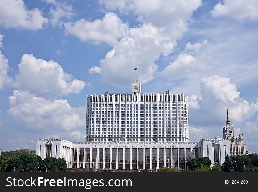
<svg viewBox="0 0 258 192">
<path fill-rule="evenodd" d="M 87 96 L 86 142 L 189 142 L 188 98 L 184 93 Z"/>
</svg>

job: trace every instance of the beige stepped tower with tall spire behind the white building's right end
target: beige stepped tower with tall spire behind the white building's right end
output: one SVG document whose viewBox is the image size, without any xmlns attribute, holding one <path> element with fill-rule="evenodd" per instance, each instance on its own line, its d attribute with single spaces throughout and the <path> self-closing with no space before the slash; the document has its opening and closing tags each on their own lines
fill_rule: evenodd
<svg viewBox="0 0 258 192">
<path fill-rule="evenodd" d="M 238 137 L 234 136 L 234 127 L 230 125 L 229 115 L 227 110 L 226 128 L 223 128 L 223 138 L 229 139 L 230 143 L 230 155 L 247 155 L 249 152 L 246 150 L 246 144 L 244 144 L 243 134 L 238 134 Z"/>
</svg>

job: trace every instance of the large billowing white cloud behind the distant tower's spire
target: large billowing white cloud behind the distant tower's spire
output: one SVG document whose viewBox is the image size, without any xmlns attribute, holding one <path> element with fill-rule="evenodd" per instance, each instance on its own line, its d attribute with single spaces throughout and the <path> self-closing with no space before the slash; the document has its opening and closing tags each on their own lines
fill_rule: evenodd
<svg viewBox="0 0 258 192">
<path fill-rule="evenodd" d="M 231 121 L 241 123 L 253 117 L 258 111 L 258 100 L 256 103 L 249 103 L 239 97 L 240 93 L 236 85 L 230 83 L 230 78 L 218 75 L 203 78 L 200 88 L 202 99 L 198 100 L 200 108 L 191 113 L 192 124 L 201 126 L 224 124 L 227 109 Z"/>
</svg>

